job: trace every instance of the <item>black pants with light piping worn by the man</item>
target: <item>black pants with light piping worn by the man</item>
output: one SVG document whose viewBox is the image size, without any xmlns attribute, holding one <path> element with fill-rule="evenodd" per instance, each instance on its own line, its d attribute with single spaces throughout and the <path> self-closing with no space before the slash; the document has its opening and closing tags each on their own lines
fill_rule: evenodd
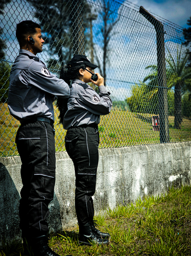
<svg viewBox="0 0 191 256">
<path fill-rule="evenodd" d="M 55 187 L 55 131 L 47 122 L 21 124 L 16 145 L 22 162 L 19 206 L 22 236 L 46 235 L 48 205 Z"/>
</svg>

